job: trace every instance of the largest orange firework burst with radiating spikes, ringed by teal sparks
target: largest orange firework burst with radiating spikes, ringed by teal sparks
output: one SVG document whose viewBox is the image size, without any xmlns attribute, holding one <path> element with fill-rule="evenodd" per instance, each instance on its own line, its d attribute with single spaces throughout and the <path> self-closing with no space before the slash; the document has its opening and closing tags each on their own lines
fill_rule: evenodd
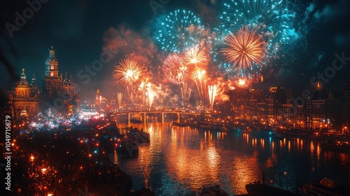
<svg viewBox="0 0 350 196">
<path fill-rule="evenodd" d="M 249 31 L 248 27 L 241 27 L 237 34 L 225 37 L 224 44 L 228 45 L 228 48 L 223 48 L 221 52 L 225 55 L 225 61 L 233 62 L 232 68 L 238 67 L 241 71 L 251 68 L 254 62 L 262 64 L 266 43 L 256 31 Z"/>
</svg>

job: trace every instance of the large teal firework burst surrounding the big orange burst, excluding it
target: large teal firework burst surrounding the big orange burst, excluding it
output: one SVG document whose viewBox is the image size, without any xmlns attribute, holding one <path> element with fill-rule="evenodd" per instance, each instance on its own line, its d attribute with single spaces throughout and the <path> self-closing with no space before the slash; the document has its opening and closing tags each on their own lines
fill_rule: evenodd
<svg viewBox="0 0 350 196">
<path fill-rule="evenodd" d="M 288 0 L 224 0 L 219 8 L 220 23 L 214 28 L 217 33 L 216 50 L 211 51 L 214 63 L 226 76 L 251 78 L 262 72 L 278 73 L 281 62 L 290 65 L 293 48 L 304 45 L 309 11 L 298 1 Z M 265 42 L 265 58 L 261 64 L 253 63 L 251 69 L 232 69 L 218 51 L 221 41 L 230 34 L 237 34 L 241 27 L 248 27 Z M 298 46 L 300 45 L 300 46 Z M 273 70 L 276 69 L 276 70 Z"/>
</svg>

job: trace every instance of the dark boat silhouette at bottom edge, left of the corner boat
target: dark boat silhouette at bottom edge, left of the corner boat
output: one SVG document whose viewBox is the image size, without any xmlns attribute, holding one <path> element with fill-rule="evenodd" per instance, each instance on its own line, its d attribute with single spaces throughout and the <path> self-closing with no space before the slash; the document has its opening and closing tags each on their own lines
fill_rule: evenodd
<svg viewBox="0 0 350 196">
<path fill-rule="evenodd" d="M 295 196 L 295 193 L 277 188 L 274 186 L 268 186 L 260 181 L 255 181 L 246 185 L 246 192 L 251 196 L 269 196 L 269 195 L 283 195 L 283 196 Z"/>
</svg>

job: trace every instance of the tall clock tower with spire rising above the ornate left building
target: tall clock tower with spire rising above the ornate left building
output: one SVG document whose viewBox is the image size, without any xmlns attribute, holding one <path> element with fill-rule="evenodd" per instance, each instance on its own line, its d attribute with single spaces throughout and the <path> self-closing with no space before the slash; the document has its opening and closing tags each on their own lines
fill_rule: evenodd
<svg viewBox="0 0 350 196">
<path fill-rule="evenodd" d="M 43 97 L 52 97 L 54 92 L 62 92 L 62 76 L 59 76 L 58 61 L 55 57 L 55 50 L 51 46 L 48 49 L 49 57 L 45 61 L 45 75 L 43 76 Z"/>
</svg>

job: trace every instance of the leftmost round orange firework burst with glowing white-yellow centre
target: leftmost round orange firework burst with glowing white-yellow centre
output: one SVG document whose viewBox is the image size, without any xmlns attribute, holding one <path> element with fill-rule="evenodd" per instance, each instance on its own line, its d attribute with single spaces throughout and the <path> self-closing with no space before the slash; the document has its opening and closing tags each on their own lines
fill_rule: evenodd
<svg viewBox="0 0 350 196">
<path fill-rule="evenodd" d="M 141 66 L 138 62 L 130 59 L 125 59 L 123 62 L 120 62 L 114 70 L 114 78 L 118 79 L 118 82 L 127 83 L 132 85 L 132 83 L 139 79 L 141 75 Z"/>
</svg>

